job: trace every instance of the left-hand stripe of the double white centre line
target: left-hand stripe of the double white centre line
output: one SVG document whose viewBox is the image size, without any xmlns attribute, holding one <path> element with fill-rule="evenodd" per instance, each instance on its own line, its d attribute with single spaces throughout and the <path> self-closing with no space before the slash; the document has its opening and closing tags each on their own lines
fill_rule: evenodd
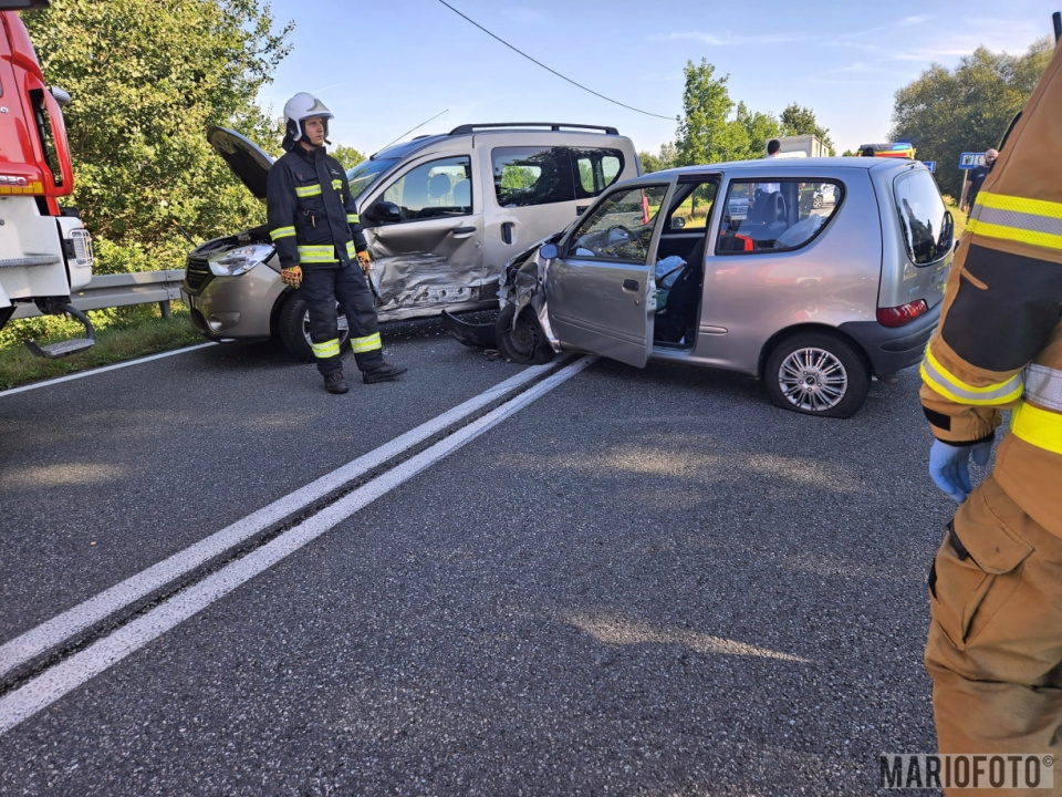
<svg viewBox="0 0 1062 797">
<path fill-rule="evenodd" d="M 91 628 L 128 604 L 142 600 L 175 579 L 195 570 L 204 562 L 210 561 L 230 548 L 238 546 L 243 540 L 287 517 L 291 517 L 333 490 L 379 467 L 403 452 L 419 445 L 447 426 L 488 406 L 507 393 L 534 381 L 551 368 L 553 366 L 534 365 L 524 369 L 490 390 L 395 437 L 379 448 L 360 456 L 332 473 L 325 474 L 290 495 L 278 498 L 272 504 L 237 520 L 231 526 L 15 636 L 10 642 L 0 645 L 0 676 L 33 661 L 84 629 Z"/>
</svg>

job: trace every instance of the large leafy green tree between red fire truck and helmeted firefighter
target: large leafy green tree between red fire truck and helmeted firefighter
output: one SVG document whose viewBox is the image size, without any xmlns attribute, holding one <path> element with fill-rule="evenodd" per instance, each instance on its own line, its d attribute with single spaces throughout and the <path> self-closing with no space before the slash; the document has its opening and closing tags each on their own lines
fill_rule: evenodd
<svg viewBox="0 0 1062 797">
<path fill-rule="evenodd" d="M 263 220 L 257 201 L 206 142 L 232 127 L 275 153 L 277 125 L 256 104 L 288 53 L 259 0 L 69 0 L 23 19 L 64 108 L 72 203 L 101 272 L 180 265 L 188 242 Z"/>
</svg>

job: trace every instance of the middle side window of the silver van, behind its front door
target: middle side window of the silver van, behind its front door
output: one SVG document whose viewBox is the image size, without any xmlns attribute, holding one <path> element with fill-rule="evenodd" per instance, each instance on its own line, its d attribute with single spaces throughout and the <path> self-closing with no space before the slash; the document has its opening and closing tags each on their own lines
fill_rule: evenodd
<svg viewBox="0 0 1062 797">
<path fill-rule="evenodd" d="M 499 147 L 490 153 L 494 196 L 501 207 L 528 207 L 575 199 L 565 147 Z"/>
</svg>

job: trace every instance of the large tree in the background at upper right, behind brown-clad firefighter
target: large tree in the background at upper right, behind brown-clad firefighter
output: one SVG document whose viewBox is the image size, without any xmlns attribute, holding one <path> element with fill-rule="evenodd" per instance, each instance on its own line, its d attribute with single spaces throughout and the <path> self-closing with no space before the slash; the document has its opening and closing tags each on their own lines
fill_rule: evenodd
<svg viewBox="0 0 1062 797">
<path fill-rule="evenodd" d="M 1041 39 L 1023 55 L 978 48 L 955 71 L 933 64 L 896 92 L 889 138 L 909 141 L 922 161 L 936 161 L 945 194 L 958 197 L 964 152 L 998 147 L 1051 60 L 1053 43 Z"/>
</svg>

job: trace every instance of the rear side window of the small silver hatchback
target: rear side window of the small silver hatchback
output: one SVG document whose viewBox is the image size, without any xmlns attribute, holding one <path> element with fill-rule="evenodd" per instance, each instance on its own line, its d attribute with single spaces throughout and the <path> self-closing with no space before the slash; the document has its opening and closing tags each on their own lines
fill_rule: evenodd
<svg viewBox="0 0 1062 797">
<path fill-rule="evenodd" d="M 737 255 L 802 247 L 825 229 L 844 196 L 835 182 L 731 183 L 716 252 Z"/>
</svg>

